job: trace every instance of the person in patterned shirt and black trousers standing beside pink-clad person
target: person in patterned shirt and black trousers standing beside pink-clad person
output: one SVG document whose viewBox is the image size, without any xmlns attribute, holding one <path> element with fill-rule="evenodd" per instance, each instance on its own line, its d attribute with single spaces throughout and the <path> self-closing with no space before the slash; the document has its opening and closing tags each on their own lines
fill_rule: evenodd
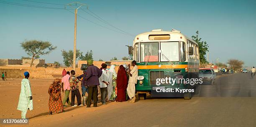
<svg viewBox="0 0 256 127">
<path fill-rule="evenodd" d="M 75 71 L 72 70 L 71 76 L 69 78 L 69 85 L 70 85 L 70 90 L 71 90 L 71 106 L 72 107 L 76 107 L 77 105 L 83 106 L 81 104 L 81 94 L 79 92 L 78 85 L 77 85 L 79 80 L 74 75 L 75 75 Z M 75 97 L 77 97 L 77 105 L 74 104 Z"/>
</svg>

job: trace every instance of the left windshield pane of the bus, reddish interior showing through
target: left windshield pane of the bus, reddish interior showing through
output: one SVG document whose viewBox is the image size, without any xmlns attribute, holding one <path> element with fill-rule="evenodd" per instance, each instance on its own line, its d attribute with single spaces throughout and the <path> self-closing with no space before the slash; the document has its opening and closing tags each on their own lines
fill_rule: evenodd
<svg viewBox="0 0 256 127">
<path fill-rule="evenodd" d="M 158 42 L 141 42 L 141 62 L 158 62 Z"/>
</svg>

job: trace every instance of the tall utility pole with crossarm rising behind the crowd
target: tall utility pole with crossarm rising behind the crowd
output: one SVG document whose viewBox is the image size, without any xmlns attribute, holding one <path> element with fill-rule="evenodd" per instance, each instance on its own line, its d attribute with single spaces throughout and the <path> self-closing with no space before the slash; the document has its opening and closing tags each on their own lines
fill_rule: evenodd
<svg viewBox="0 0 256 127">
<path fill-rule="evenodd" d="M 88 5 L 82 4 L 80 2 L 72 2 L 70 4 L 65 5 L 65 9 L 67 6 L 70 6 L 74 9 L 74 15 L 75 15 L 75 20 L 74 20 L 74 51 L 73 51 L 73 70 L 76 71 L 76 54 L 77 54 L 77 10 L 82 7 L 82 6 L 87 6 Z"/>
</svg>

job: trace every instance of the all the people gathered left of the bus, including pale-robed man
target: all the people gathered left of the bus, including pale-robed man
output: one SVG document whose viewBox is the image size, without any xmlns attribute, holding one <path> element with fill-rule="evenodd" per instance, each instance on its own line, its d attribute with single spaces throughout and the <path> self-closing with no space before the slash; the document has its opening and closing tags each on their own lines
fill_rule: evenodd
<svg viewBox="0 0 256 127">
<path fill-rule="evenodd" d="M 83 70 L 83 74 L 75 77 L 75 71 L 62 72 L 62 78 L 54 79 L 49 86 L 49 114 L 53 112 L 65 112 L 64 107 L 71 105 L 72 107 L 84 106 L 97 107 L 97 103 L 101 102 L 105 105 L 107 101 L 129 102 L 134 103 L 135 85 L 137 83 L 138 68 L 136 61 L 132 61 L 133 69 L 130 65 L 120 65 L 118 73 L 115 72 L 115 65 L 111 65 L 107 69 L 107 65 L 102 63 L 101 68 L 93 65 L 92 60 L 87 61 L 87 70 Z M 29 78 L 29 72 L 24 72 L 25 78 L 21 81 L 20 97 L 17 110 L 21 111 L 21 118 L 26 119 L 27 110 L 33 110 L 32 92 Z M 82 97 L 79 91 L 79 81 L 81 82 Z M 64 92 L 64 99 L 61 100 L 61 91 Z M 71 102 L 69 93 L 71 91 Z M 98 100 L 100 95 L 100 100 Z M 77 98 L 77 105 L 75 104 Z M 68 105 L 66 105 L 66 103 Z"/>
</svg>

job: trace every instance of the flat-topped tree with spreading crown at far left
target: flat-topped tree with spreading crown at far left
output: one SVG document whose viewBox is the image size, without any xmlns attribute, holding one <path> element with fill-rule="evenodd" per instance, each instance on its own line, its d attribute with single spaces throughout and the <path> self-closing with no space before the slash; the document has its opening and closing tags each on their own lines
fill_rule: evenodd
<svg viewBox="0 0 256 127">
<path fill-rule="evenodd" d="M 41 40 L 25 40 L 20 43 L 20 46 L 31 57 L 30 67 L 32 67 L 33 61 L 38 59 L 40 55 L 49 54 L 57 48 L 52 46 L 50 42 Z"/>
</svg>

